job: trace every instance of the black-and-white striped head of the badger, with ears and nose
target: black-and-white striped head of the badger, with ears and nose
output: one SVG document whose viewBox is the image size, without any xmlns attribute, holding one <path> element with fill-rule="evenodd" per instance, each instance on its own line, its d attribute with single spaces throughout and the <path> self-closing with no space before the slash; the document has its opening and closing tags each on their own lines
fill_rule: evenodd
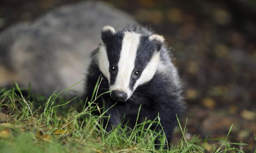
<svg viewBox="0 0 256 153">
<path fill-rule="evenodd" d="M 164 37 L 104 26 L 102 41 L 97 58 L 99 69 L 108 80 L 112 99 L 126 101 L 156 73 Z"/>
</svg>

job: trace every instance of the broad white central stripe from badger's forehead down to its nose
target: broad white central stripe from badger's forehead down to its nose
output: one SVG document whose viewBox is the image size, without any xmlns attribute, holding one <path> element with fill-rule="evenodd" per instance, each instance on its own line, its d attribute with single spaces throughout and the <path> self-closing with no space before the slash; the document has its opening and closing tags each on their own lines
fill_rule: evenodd
<svg viewBox="0 0 256 153">
<path fill-rule="evenodd" d="M 128 98 L 132 95 L 129 88 L 130 76 L 134 69 L 137 48 L 140 44 L 140 34 L 125 32 L 118 63 L 116 81 L 110 90 L 120 90 L 127 93 Z"/>
</svg>

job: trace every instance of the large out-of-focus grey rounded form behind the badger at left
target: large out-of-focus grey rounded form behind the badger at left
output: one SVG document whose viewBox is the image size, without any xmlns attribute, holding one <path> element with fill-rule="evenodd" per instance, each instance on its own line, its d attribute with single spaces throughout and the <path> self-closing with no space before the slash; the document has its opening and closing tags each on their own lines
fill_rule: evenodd
<svg viewBox="0 0 256 153">
<path fill-rule="evenodd" d="M 20 23 L 0 33 L 0 88 L 28 87 L 34 93 L 51 95 L 75 83 L 84 90 L 90 53 L 101 43 L 105 25 L 115 28 L 135 23 L 128 14 L 104 2 L 86 1 L 67 5 L 39 17 L 33 23 Z"/>
</svg>

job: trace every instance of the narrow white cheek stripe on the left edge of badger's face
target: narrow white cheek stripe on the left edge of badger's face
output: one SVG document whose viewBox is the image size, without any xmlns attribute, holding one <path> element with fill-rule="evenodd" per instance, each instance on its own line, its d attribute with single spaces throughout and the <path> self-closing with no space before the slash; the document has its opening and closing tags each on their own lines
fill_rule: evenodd
<svg viewBox="0 0 256 153">
<path fill-rule="evenodd" d="M 110 73 L 109 73 L 109 60 L 107 58 L 107 50 L 105 45 L 101 45 L 98 53 L 98 66 L 102 74 L 110 82 Z"/>
</svg>

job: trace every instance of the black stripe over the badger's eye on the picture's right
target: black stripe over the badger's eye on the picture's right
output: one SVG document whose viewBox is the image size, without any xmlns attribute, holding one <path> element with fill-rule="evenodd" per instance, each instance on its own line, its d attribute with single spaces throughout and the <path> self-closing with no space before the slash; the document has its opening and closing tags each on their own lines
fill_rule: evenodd
<svg viewBox="0 0 256 153">
<path fill-rule="evenodd" d="M 137 54 L 135 58 L 135 67 L 133 73 L 130 77 L 130 89 L 133 90 L 133 86 L 135 85 L 137 79 L 140 78 L 140 75 L 137 77 L 133 77 L 136 70 L 140 70 L 140 74 L 142 74 L 143 70 L 150 62 L 154 51 L 156 50 L 156 45 L 149 41 L 149 37 L 141 36 L 140 37 L 140 44 L 137 49 Z"/>
</svg>

